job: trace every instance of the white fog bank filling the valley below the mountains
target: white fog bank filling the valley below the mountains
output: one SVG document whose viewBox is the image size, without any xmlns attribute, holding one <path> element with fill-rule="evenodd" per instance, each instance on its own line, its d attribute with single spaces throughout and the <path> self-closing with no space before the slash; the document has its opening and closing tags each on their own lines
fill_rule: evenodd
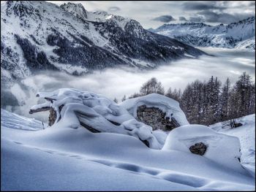
<svg viewBox="0 0 256 192">
<path fill-rule="evenodd" d="M 22 80 L 26 85 L 24 91 L 20 85 L 11 88 L 12 94 L 18 99 L 20 107 L 7 106 L 6 109 L 27 117 L 34 117 L 47 121 L 48 112 L 29 115 L 29 108 L 40 101 L 36 97 L 37 91 L 54 91 L 58 88 L 77 88 L 82 91 L 92 91 L 107 96 L 115 97 L 118 101 L 126 95 L 130 96 L 139 92 L 140 86 L 151 77 L 156 77 L 162 82 L 165 91 L 168 88 L 181 88 L 194 80 L 208 80 L 211 76 L 218 77 L 225 82 L 230 78 L 231 85 L 238 77 L 246 72 L 255 82 L 255 51 L 222 48 L 200 48 L 214 56 L 201 56 L 199 59 L 182 59 L 173 61 L 157 69 L 137 70 L 131 68 L 107 69 L 104 72 L 94 72 L 84 76 L 72 76 L 64 72 L 41 72 Z"/>
</svg>

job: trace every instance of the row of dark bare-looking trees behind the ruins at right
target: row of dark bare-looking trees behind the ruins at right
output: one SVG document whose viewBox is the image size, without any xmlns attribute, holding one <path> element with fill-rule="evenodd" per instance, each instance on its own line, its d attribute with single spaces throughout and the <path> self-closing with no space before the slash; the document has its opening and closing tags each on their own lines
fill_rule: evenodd
<svg viewBox="0 0 256 192">
<path fill-rule="evenodd" d="M 140 87 L 140 93 L 134 93 L 130 98 L 159 93 L 175 99 L 180 103 L 181 110 L 187 116 L 189 123 L 211 125 L 224 120 L 230 120 L 233 127 L 236 118 L 255 113 L 255 82 L 244 72 L 231 87 L 230 80 L 222 84 L 217 77 L 208 81 L 195 80 L 181 89 L 169 88 L 165 93 L 162 83 L 152 77 Z M 122 99 L 124 101 L 126 96 Z"/>
</svg>

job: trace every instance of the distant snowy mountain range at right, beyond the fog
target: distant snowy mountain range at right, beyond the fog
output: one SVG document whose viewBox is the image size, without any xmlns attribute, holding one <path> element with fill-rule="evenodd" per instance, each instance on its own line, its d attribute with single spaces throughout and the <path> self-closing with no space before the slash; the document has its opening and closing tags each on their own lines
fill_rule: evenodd
<svg viewBox="0 0 256 192">
<path fill-rule="evenodd" d="M 165 24 L 150 31 L 198 47 L 237 47 L 255 50 L 255 17 L 218 26 L 204 23 Z"/>
</svg>

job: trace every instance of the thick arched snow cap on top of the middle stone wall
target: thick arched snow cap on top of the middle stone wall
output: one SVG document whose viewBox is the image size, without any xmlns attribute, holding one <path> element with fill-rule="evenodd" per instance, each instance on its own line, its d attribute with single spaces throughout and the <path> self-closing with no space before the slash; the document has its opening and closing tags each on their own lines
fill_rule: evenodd
<svg viewBox="0 0 256 192">
<path fill-rule="evenodd" d="M 157 93 L 151 93 L 146 96 L 140 96 L 133 99 L 127 99 L 121 104 L 121 107 L 127 109 L 127 111 L 137 118 L 138 107 L 146 105 L 146 107 L 157 107 L 162 112 L 165 112 L 165 118 L 175 118 L 180 126 L 189 124 L 186 115 L 179 107 L 178 101 L 170 99 L 166 96 L 159 95 Z"/>
</svg>

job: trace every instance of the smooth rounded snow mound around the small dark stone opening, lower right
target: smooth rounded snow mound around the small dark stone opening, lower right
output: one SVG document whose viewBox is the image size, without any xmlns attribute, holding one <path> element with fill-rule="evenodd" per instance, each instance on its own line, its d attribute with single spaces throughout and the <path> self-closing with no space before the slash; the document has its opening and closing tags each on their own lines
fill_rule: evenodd
<svg viewBox="0 0 256 192">
<path fill-rule="evenodd" d="M 162 150 L 179 150 L 191 153 L 189 147 L 198 142 L 203 142 L 207 146 L 203 157 L 227 168 L 243 172 L 238 160 L 241 158 L 239 139 L 220 134 L 207 126 L 187 125 L 173 129 L 168 134 Z"/>
</svg>

